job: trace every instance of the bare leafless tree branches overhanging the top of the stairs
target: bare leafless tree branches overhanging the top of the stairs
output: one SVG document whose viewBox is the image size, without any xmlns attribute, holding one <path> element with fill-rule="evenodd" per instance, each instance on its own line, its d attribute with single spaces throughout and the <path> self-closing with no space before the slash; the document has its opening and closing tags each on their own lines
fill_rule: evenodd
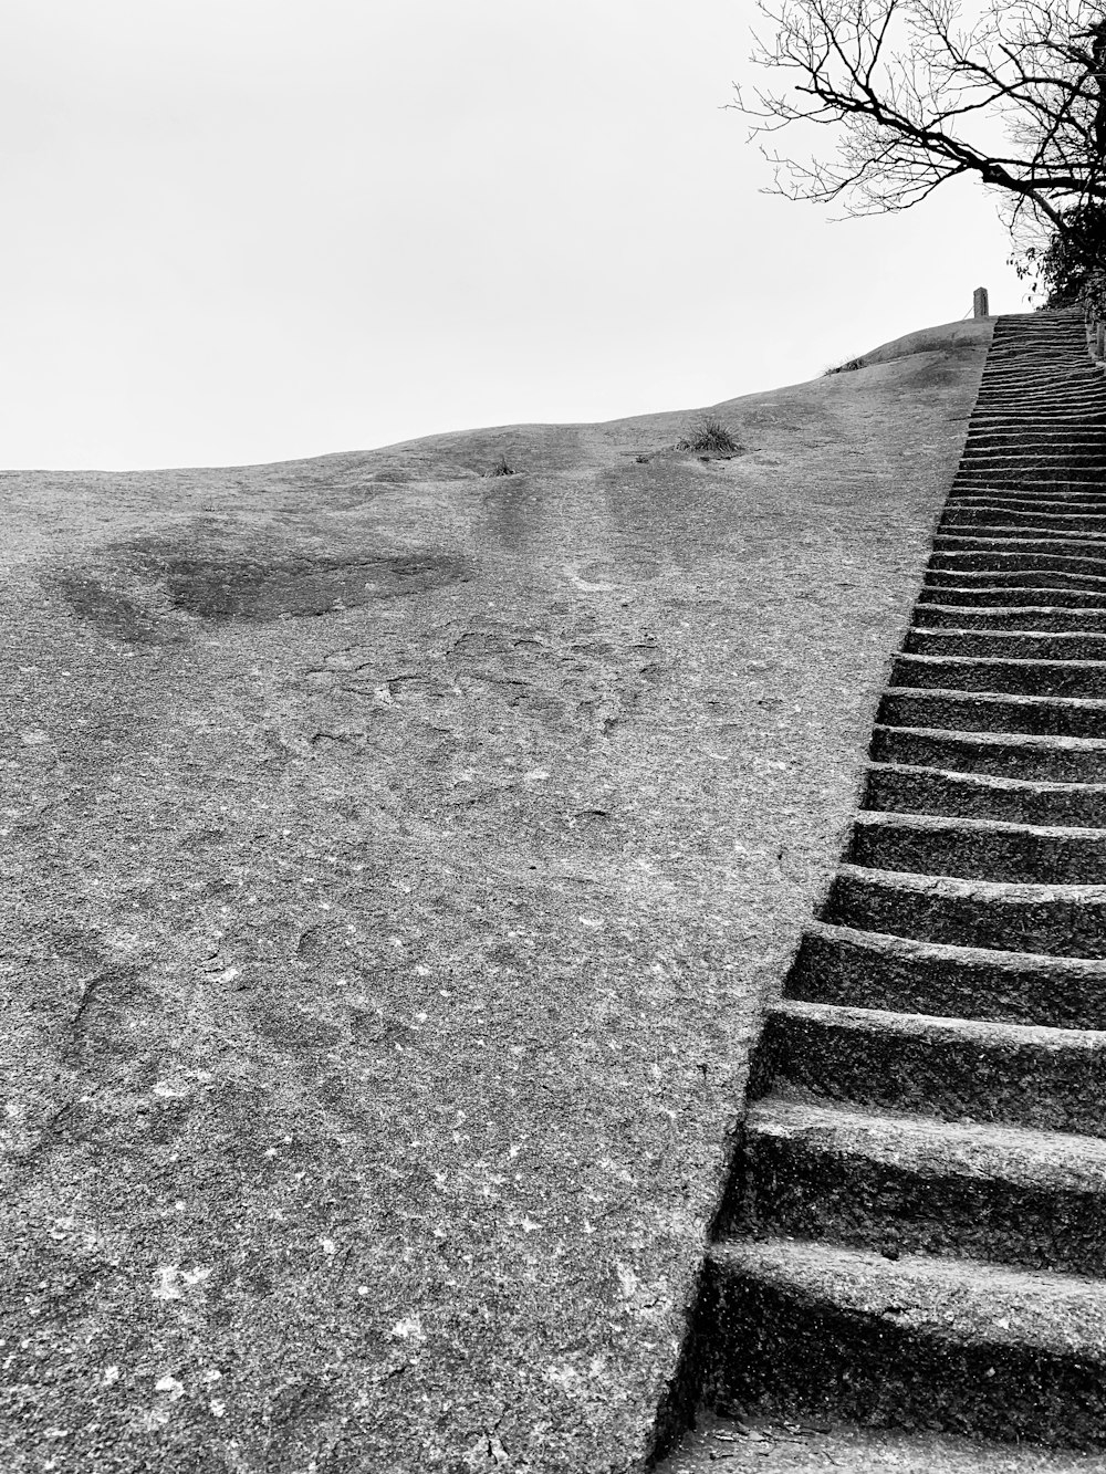
<svg viewBox="0 0 1106 1474">
<path fill-rule="evenodd" d="M 1106 0 L 987 0 L 969 19 L 959 0 L 758 0 L 758 9 L 773 34 L 755 38 L 752 60 L 792 85 L 758 90 L 752 105 L 737 93 L 754 136 L 804 122 L 836 130 L 829 158 L 764 149 L 776 193 L 864 215 L 907 209 L 945 180 L 975 175 L 1003 193 L 1015 231 L 1068 240 L 1077 221 L 1102 217 Z M 1081 249 L 1087 237 L 1082 228 Z"/>
</svg>

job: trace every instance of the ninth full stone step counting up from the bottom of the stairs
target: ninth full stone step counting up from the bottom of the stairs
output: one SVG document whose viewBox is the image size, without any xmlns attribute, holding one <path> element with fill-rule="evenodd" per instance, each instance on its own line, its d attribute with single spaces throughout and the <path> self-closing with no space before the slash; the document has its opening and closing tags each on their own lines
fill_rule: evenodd
<svg viewBox="0 0 1106 1474">
<path fill-rule="evenodd" d="M 960 733 L 1016 733 L 1026 737 L 1081 737 L 1106 740 L 1106 700 L 1069 696 L 1012 696 L 994 691 L 956 691 L 941 687 L 889 687 L 880 697 L 879 727 L 950 728 Z M 883 743 L 883 738 L 880 738 Z M 919 750 L 925 743 L 914 744 Z M 1047 749 L 1051 750 L 1051 749 Z M 960 749 L 953 750 L 956 755 Z M 947 753 L 953 756 L 953 752 Z M 938 764 L 938 766 L 942 766 Z M 1106 774 L 1106 768 L 1103 769 Z M 1081 777 L 1063 780 L 1097 783 Z M 1106 777 L 1102 780 L 1106 781 Z"/>
</svg>

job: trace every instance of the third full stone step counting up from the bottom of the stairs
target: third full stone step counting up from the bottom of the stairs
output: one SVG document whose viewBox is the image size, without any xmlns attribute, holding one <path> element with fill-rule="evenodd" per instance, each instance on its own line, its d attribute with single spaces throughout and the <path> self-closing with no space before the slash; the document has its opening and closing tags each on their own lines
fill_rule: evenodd
<svg viewBox="0 0 1106 1474">
<path fill-rule="evenodd" d="M 1106 1033 L 780 999 L 749 1077 L 768 1089 L 1106 1138 Z"/>
</svg>

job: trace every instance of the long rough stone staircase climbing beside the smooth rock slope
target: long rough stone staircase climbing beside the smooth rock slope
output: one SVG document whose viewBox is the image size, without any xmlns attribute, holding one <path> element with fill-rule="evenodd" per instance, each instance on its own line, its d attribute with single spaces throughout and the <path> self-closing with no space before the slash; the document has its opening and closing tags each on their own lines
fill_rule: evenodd
<svg viewBox="0 0 1106 1474">
<path fill-rule="evenodd" d="M 870 756 L 768 1010 L 689 1384 L 1103 1449 L 1106 385 L 1078 315 L 995 324 Z"/>
</svg>

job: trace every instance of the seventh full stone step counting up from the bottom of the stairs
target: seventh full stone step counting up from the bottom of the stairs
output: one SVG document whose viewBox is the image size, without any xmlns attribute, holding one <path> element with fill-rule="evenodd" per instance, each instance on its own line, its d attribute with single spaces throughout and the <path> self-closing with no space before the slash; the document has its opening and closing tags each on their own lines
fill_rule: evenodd
<svg viewBox="0 0 1106 1474">
<path fill-rule="evenodd" d="M 863 808 L 880 814 L 1106 828 L 1106 783 L 1031 783 L 905 764 L 869 764 Z"/>
</svg>

